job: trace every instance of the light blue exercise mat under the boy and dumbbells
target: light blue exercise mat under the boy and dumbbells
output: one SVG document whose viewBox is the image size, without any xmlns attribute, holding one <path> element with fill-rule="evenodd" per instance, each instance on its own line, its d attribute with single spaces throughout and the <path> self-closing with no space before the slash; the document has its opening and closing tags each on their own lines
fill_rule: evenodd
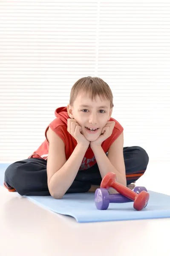
<svg viewBox="0 0 170 256">
<path fill-rule="evenodd" d="M 0 185 L 2 186 L 4 171 L 7 166 L 8 165 L 6 164 L 0 165 Z M 109 204 L 109 208 L 107 210 L 98 210 L 95 207 L 95 193 L 66 194 L 62 199 L 58 200 L 52 198 L 51 196 L 26 197 L 35 204 L 38 204 L 53 212 L 63 215 L 70 215 L 78 222 L 170 218 L 170 196 L 153 191 L 148 192 L 150 193 L 150 200 L 147 207 L 141 211 L 136 211 L 133 208 L 133 202 L 124 204 Z"/>
</svg>

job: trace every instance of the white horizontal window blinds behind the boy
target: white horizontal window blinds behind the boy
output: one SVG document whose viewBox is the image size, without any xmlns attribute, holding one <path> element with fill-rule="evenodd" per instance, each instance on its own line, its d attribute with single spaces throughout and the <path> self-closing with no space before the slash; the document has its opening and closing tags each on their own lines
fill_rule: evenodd
<svg viewBox="0 0 170 256">
<path fill-rule="evenodd" d="M 124 146 L 169 161 L 170 1 L 1 0 L 1 163 L 37 149 L 84 76 L 111 87 Z"/>
</svg>

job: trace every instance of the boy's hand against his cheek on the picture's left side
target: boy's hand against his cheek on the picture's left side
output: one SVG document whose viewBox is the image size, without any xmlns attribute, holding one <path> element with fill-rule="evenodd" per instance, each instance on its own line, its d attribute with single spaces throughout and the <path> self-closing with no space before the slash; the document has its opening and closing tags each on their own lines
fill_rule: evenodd
<svg viewBox="0 0 170 256">
<path fill-rule="evenodd" d="M 81 134 L 81 126 L 74 118 L 67 119 L 67 131 L 75 138 L 78 144 L 89 146 L 89 140 L 86 140 L 84 135 Z"/>
</svg>

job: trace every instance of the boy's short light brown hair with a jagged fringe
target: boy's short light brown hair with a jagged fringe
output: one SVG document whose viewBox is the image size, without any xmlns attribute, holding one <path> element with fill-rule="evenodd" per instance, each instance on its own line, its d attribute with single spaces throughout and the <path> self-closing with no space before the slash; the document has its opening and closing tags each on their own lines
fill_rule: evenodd
<svg viewBox="0 0 170 256">
<path fill-rule="evenodd" d="M 87 76 L 79 79 L 72 86 L 70 93 L 69 104 L 73 106 L 73 103 L 78 96 L 78 93 L 89 93 L 90 98 L 93 100 L 97 95 L 101 98 L 108 99 L 110 101 L 110 108 L 113 105 L 113 95 L 109 85 L 99 77 Z"/>
</svg>

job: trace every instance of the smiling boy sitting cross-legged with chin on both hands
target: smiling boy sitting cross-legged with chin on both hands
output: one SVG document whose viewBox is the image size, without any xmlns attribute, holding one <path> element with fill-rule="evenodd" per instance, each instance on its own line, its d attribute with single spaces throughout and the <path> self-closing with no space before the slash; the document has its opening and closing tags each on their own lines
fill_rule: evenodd
<svg viewBox="0 0 170 256">
<path fill-rule="evenodd" d="M 4 186 L 20 195 L 61 199 L 66 193 L 95 192 L 108 172 L 124 186 L 134 183 L 147 169 L 149 157 L 141 147 L 123 148 L 124 128 L 111 117 L 112 109 L 106 82 L 90 76 L 79 79 L 67 107 L 56 109 L 46 140 L 28 159 L 6 169 Z"/>
</svg>

